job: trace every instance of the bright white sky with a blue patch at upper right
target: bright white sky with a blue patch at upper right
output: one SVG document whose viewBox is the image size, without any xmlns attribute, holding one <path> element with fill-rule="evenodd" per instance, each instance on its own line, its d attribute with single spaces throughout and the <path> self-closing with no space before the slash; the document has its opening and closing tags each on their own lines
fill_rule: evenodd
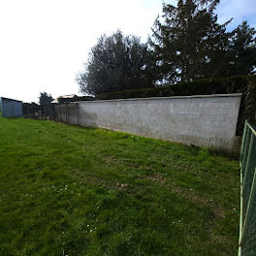
<svg viewBox="0 0 256 256">
<path fill-rule="evenodd" d="M 79 94 L 76 74 L 97 38 L 119 28 L 146 41 L 161 11 L 161 0 L 0 0 L 0 96 Z M 256 0 L 221 0 L 217 13 L 234 17 L 229 29 L 256 26 Z"/>
</svg>

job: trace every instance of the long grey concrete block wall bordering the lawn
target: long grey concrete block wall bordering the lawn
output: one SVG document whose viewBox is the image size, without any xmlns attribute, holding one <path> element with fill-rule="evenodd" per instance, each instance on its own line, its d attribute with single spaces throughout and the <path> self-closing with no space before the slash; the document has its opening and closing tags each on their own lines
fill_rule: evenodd
<svg viewBox="0 0 256 256">
<path fill-rule="evenodd" d="M 182 144 L 233 149 L 240 97 L 225 94 L 78 102 L 70 105 L 68 122 Z M 58 114 L 64 122 L 65 108 L 61 106 Z"/>
</svg>

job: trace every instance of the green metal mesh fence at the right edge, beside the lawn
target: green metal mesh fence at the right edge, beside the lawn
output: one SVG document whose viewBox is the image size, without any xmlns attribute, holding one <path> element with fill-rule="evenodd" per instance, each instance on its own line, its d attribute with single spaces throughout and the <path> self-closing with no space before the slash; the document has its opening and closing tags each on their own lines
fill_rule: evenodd
<svg viewBox="0 0 256 256">
<path fill-rule="evenodd" d="M 239 256 L 256 255 L 256 129 L 245 121 L 240 150 Z"/>
</svg>

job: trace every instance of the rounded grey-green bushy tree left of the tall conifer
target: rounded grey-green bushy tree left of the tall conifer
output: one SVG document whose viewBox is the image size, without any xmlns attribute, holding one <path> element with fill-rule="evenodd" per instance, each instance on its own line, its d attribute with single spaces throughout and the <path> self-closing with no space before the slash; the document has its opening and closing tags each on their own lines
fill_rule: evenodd
<svg viewBox="0 0 256 256">
<path fill-rule="evenodd" d="M 151 60 L 152 53 L 139 38 L 117 31 L 110 37 L 100 37 L 76 80 L 81 92 L 92 95 L 151 87 L 155 80 Z"/>
</svg>

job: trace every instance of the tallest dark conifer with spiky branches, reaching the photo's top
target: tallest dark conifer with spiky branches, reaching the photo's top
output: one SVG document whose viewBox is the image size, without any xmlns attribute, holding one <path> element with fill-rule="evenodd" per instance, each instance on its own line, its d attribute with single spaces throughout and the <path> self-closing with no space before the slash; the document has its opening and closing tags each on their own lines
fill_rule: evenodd
<svg viewBox="0 0 256 256">
<path fill-rule="evenodd" d="M 218 2 L 178 0 L 177 6 L 163 4 L 163 16 L 156 19 L 150 40 L 163 81 L 223 76 L 230 20 L 217 23 L 213 12 Z"/>
</svg>

